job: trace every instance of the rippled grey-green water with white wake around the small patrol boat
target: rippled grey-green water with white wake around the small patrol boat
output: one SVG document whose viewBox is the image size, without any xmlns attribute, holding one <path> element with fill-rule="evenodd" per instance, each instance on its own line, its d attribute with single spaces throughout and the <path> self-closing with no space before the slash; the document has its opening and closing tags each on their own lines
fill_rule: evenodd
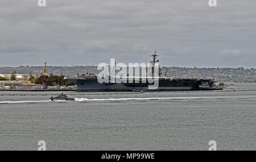
<svg viewBox="0 0 256 162">
<path fill-rule="evenodd" d="M 256 84 L 205 92 L 0 92 L 0 150 L 256 150 Z"/>
</svg>

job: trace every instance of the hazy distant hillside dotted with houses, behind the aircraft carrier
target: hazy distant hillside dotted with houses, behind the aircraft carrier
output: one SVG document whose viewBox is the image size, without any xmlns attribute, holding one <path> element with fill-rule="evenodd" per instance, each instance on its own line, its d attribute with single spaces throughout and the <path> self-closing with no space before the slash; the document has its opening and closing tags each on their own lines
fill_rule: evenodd
<svg viewBox="0 0 256 162">
<path fill-rule="evenodd" d="M 54 75 L 64 74 L 65 76 L 77 76 L 77 74 L 100 73 L 96 66 L 73 66 L 73 67 L 52 67 L 48 66 L 48 73 Z M 0 74 L 11 74 L 13 71 L 17 74 L 40 75 L 43 67 L 0 67 Z M 184 68 L 184 67 L 162 67 L 162 73 L 167 76 L 177 78 L 214 78 L 216 82 L 256 82 L 256 69 L 250 68 Z"/>
</svg>

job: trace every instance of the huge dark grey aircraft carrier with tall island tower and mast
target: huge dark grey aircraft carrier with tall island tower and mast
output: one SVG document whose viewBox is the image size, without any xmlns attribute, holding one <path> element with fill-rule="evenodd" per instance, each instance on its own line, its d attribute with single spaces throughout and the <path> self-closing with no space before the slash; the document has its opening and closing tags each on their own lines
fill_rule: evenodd
<svg viewBox="0 0 256 162">
<path fill-rule="evenodd" d="M 153 65 L 158 63 L 158 55 L 156 52 L 151 55 L 152 61 L 150 63 Z M 152 70 L 154 71 L 154 70 Z M 166 70 L 167 74 L 167 70 Z M 149 85 L 152 83 L 146 81 L 143 82 L 142 78 L 139 78 L 139 82 L 103 82 L 100 83 L 97 80 L 97 75 L 89 75 L 84 77 L 68 77 L 69 81 L 72 81 L 76 85 L 76 89 L 79 92 L 84 91 L 175 91 L 175 90 L 222 90 L 217 88 L 214 84 L 213 78 L 174 78 L 166 77 L 161 75 L 161 68 L 159 68 L 158 77 L 158 88 L 150 89 Z M 110 76 L 105 76 L 109 77 Z M 127 78 L 128 79 L 128 78 Z"/>
</svg>

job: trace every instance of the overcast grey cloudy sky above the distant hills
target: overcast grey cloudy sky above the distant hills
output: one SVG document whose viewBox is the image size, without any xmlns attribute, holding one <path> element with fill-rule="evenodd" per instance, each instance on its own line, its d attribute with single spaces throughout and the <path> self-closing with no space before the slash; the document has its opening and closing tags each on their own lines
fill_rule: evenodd
<svg viewBox="0 0 256 162">
<path fill-rule="evenodd" d="M 147 63 L 256 68 L 256 1 L 1 0 L 0 67 Z"/>
</svg>

